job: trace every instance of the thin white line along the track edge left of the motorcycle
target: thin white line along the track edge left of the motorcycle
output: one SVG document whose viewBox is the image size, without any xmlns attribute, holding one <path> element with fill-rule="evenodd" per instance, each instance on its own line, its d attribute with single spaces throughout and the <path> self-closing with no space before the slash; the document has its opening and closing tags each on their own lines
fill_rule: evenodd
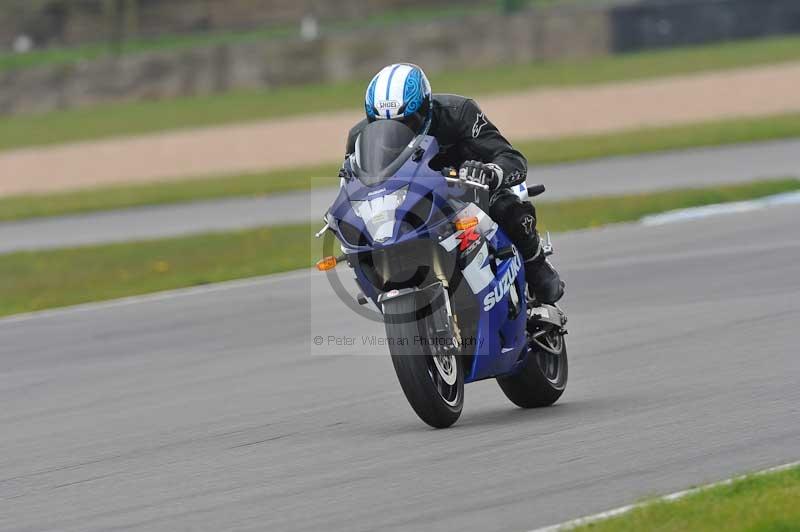
<svg viewBox="0 0 800 532">
<path fill-rule="evenodd" d="M 170 299 L 177 299 L 180 297 L 188 297 L 198 294 L 208 294 L 212 292 L 222 292 L 225 290 L 234 290 L 237 288 L 249 288 L 255 286 L 269 285 L 279 281 L 286 281 L 292 279 L 300 279 L 309 276 L 316 270 L 295 270 L 286 273 L 276 273 L 262 277 L 251 277 L 248 279 L 234 279 L 231 281 L 223 281 L 220 283 L 212 283 L 203 286 L 192 286 L 188 288 L 178 288 L 176 290 L 167 290 L 164 292 L 155 292 L 152 294 L 142 294 L 140 296 L 131 296 L 121 299 L 112 299 L 110 301 L 99 301 L 95 303 L 83 303 L 73 305 L 70 307 L 56 308 L 52 310 L 41 310 L 37 312 L 27 312 L 25 314 L 15 314 L 7 318 L 0 319 L 0 326 L 12 323 L 19 323 L 23 321 L 30 321 L 34 319 L 45 319 L 67 314 L 74 314 L 79 312 L 92 312 L 96 310 L 105 310 L 117 307 L 127 307 L 129 305 L 136 305 L 139 303 L 153 303 L 156 301 L 167 301 Z"/>
</svg>

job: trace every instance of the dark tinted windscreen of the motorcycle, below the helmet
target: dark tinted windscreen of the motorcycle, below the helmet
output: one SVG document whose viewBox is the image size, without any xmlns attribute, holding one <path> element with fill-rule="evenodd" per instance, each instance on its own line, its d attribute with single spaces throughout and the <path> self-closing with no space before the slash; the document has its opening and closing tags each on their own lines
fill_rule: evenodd
<svg viewBox="0 0 800 532">
<path fill-rule="evenodd" d="M 405 162 L 398 159 L 411 155 L 412 150 L 407 148 L 415 136 L 408 126 L 395 120 L 377 120 L 364 128 L 356 141 L 361 182 L 371 186 L 391 177 L 386 170 L 396 167 L 396 171 Z"/>
</svg>

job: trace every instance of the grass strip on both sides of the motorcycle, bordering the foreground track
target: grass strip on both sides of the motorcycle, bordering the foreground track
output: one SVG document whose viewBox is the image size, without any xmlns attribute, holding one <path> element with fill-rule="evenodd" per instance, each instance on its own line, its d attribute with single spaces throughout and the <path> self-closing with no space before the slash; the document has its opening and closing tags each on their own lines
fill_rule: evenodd
<svg viewBox="0 0 800 532">
<path fill-rule="evenodd" d="M 800 180 L 543 202 L 538 210 L 543 229 L 566 231 L 790 190 L 800 190 Z M 0 315 L 308 267 L 318 258 L 311 251 L 318 225 L 0 255 Z"/>
</svg>

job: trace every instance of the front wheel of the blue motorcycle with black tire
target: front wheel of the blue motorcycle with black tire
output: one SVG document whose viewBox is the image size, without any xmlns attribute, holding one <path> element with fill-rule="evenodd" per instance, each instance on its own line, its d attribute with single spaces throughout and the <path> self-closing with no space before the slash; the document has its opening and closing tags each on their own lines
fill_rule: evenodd
<svg viewBox="0 0 800 532">
<path fill-rule="evenodd" d="M 429 334 L 418 297 L 410 294 L 384 303 L 389 352 L 411 408 L 431 427 L 446 428 L 458 420 L 464 407 L 463 362 L 457 354 L 435 359 L 437 348 L 421 345 L 419 339 Z"/>
</svg>

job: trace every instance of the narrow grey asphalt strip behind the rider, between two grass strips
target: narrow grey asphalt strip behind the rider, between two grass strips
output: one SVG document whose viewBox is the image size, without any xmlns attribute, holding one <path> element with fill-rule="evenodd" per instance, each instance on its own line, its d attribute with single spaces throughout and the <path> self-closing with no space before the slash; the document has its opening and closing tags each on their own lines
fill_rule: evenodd
<svg viewBox="0 0 800 532">
<path fill-rule="evenodd" d="M 536 167 L 529 181 L 547 185 L 545 200 L 704 187 L 798 176 L 798 153 L 800 140 L 788 140 L 613 157 Z M 334 195 L 320 189 L 0 223 L 0 253 L 316 221 Z"/>
</svg>

